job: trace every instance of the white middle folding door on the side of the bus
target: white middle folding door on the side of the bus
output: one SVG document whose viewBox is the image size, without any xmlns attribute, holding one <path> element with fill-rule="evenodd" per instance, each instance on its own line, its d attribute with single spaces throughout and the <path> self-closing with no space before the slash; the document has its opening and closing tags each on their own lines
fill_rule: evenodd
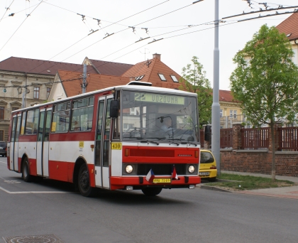
<svg viewBox="0 0 298 243">
<path fill-rule="evenodd" d="M 50 136 L 50 120 L 52 109 L 40 110 L 38 124 L 38 141 L 36 145 L 36 167 L 37 174 L 40 176 L 49 175 L 49 136 Z"/>
</svg>

